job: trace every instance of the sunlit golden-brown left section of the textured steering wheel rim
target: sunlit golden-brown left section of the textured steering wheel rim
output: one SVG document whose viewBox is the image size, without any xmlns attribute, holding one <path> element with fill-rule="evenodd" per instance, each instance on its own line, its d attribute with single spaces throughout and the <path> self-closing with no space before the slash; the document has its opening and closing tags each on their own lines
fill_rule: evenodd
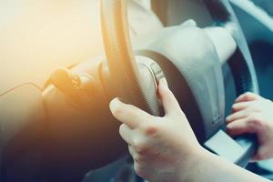
<svg viewBox="0 0 273 182">
<path fill-rule="evenodd" d="M 119 98 L 156 115 L 131 47 L 126 0 L 101 0 L 101 21 L 108 71 Z"/>
</svg>

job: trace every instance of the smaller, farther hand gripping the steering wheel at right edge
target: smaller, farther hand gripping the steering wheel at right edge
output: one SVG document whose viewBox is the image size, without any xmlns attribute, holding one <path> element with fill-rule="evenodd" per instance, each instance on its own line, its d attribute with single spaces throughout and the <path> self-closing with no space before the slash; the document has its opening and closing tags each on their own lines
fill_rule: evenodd
<svg viewBox="0 0 273 182">
<path fill-rule="evenodd" d="M 257 134 L 258 151 L 253 160 L 273 157 L 273 103 L 261 96 L 247 93 L 239 96 L 227 116 L 231 136 Z"/>
</svg>

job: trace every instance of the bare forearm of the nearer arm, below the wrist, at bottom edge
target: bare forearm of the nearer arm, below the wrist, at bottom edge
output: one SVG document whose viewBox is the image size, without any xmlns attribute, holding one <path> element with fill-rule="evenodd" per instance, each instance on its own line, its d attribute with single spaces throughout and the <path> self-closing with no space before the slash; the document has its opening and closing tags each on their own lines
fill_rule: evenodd
<svg viewBox="0 0 273 182">
<path fill-rule="evenodd" d="M 183 174 L 182 174 L 183 175 Z M 181 177 L 182 178 L 182 177 Z M 268 182 L 248 170 L 238 167 L 229 161 L 217 157 L 209 152 L 202 152 L 197 157 L 197 162 L 192 166 L 189 173 L 180 182 L 242 182 L 256 181 Z"/>
</svg>

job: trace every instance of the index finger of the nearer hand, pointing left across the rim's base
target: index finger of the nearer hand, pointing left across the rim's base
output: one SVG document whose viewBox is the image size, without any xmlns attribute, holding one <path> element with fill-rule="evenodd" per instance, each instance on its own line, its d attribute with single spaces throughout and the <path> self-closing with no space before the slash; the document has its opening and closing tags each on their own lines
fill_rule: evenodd
<svg viewBox="0 0 273 182">
<path fill-rule="evenodd" d="M 149 122 L 153 117 L 136 106 L 126 105 L 117 98 L 110 102 L 113 116 L 130 128 L 136 128 L 143 122 Z"/>
</svg>

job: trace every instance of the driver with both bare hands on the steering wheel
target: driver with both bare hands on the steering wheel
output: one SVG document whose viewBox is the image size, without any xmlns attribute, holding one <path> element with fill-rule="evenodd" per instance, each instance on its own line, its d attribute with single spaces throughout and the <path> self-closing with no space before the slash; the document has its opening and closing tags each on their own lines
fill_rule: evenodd
<svg viewBox="0 0 273 182">
<path fill-rule="evenodd" d="M 122 123 L 119 133 L 128 144 L 137 175 L 151 182 L 268 181 L 201 147 L 165 78 L 159 82 L 158 93 L 166 113 L 163 117 L 151 116 L 117 98 L 110 103 L 112 114 Z M 238 97 L 233 114 L 227 117 L 232 136 L 258 134 L 255 160 L 273 157 L 270 110 L 272 102 L 248 93 Z"/>
</svg>

